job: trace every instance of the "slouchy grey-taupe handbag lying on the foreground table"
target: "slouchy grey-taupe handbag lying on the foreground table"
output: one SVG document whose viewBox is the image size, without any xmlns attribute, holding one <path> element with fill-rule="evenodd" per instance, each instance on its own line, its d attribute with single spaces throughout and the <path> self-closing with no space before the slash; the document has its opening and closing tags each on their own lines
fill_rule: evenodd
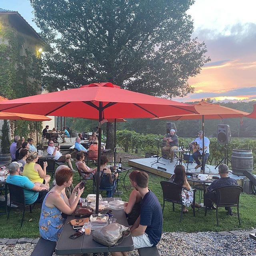
<svg viewBox="0 0 256 256">
<path fill-rule="evenodd" d="M 93 240 L 106 246 L 116 246 L 127 236 L 130 236 L 129 228 L 118 223 L 108 224 L 108 226 L 98 228 L 92 232 Z M 122 240 L 117 243 L 120 238 Z"/>
</svg>

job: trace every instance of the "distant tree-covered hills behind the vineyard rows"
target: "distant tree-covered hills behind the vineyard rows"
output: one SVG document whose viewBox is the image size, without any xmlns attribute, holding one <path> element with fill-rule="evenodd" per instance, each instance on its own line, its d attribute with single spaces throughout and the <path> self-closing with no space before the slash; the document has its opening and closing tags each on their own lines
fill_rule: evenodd
<svg viewBox="0 0 256 256">
<path fill-rule="evenodd" d="M 188 102 L 189 104 L 198 102 Z M 234 108 L 237 110 L 252 112 L 252 102 L 228 102 L 220 103 L 222 106 Z M 170 113 L 171 115 L 172 113 Z M 166 122 L 174 122 L 177 128 L 177 134 L 180 137 L 194 137 L 199 130 L 202 130 L 202 120 L 183 120 L 183 121 L 168 121 L 168 120 L 150 120 L 150 119 L 127 119 L 128 122 L 117 123 L 117 130 L 133 130 L 143 134 L 165 134 Z M 205 120 L 205 135 L 208 137 L 217 136 L 217 125 L 229 124 L 232 137 L 256 137 L 256 119 L 243 118 L 243 124 L 240 125 L 240 118 L 228 118 L 223 120 Z M 96 130 L 97 122 L 93 121 L 93 130 Z M 67 118 L 66 126 L 78 132 L 91 131 L 92 122 L 82 118 Z M 103 125 L 103 132 L 106 133 L 106 124 Z"/>
</svg>

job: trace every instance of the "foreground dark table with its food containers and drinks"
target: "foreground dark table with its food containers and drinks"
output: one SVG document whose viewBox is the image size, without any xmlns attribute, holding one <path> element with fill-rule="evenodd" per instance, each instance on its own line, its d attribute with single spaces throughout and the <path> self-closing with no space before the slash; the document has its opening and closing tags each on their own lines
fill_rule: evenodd
<svg viewBox="0 0 256 256">
<path fill-rule="evenodd" d="M 96 196 L 95 194 L 91 194 L 88 196 Z M 88 198 L 88 197 L 87 197 Z M 87 198 L 81 198 L 81 205 L 84 203 L 84 206 L 88 208 L 92 208 L 95 210 L 95 202 L 86 202 Z M 68 216 L 66 222 L 64 224 L 62 233 L 57 242 L 55 252 L 56 254 L 88 254 L 88 253 L 103 253 L 104 256 L 108 255 L 108 252 L 125 252 L 132 251 L 134 249 L 132 237 L 128 236 L 118 244 L 117 246 L 105 246 L 103 244 L 99 244 L 95 240 L 93 240 L 92 232 L 97 228 L 101 228 L 103 226 L 107 226 L 110 222 L 117 222 L 128 227 L 128 223 L 126 220 L 126 216 L 123 210 L 123 206 L 125 202 L 122 202 L 121 198 L 116 198 L 119 200 L 115 200 L 115 198 L 101 198 L 99 202 L 99 209 L 112 209 L 110 214 L 113 215 L 113 218 L 107 218 L 105 224 L 102 222 L 102 225 L 97 226 L 94 223 L 93 217 L 95 215 L 90 216 L 90 221 L 84 224 L 82 228 L 82 234 L 76 234 L 78 230 L 74 230 L 72 225 L 70 224 L 70 220 L 78 219 L 78 217 L 72 215 Z M 112 203 L 111 203 L 112 202 Z M 116 202 L 116 203 L 115 203 Z M 86 203 L 86 204 L 85 204 Z M 116 207 L 117 206 L 117 207 Z M 114 208 L 113 208 L 114 207 Z M 114 210 L 116 209 L 116 210 Z M 107 214 L 98 215 L 100 218 Z M 108 215 L 107 215 L 108 216 Z M 112 219 L 112 220 L 111 220 Z M 96 224 L 96 225 L 95 225 Z M 73 236 L 73 237 L 72 237 Z M 72 238 L 75 239 L 72 239 Z"/>
</svg>

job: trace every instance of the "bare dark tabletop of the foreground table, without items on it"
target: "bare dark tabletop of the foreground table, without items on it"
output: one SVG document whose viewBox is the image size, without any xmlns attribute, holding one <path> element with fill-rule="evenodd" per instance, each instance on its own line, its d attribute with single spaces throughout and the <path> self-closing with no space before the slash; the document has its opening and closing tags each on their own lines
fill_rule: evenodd
<svg viewBox="0 0 256 256">
<path fill-rule="evenodd" d="M 112 201 L 113 198 L 104 198 L 104 200 Z M 124 210 L 112 210 L 111 214 L 116 218 L 116 222 L 128 227 Z M 118 246 L 104 246 L 95 242 L 92 239 L 92 232 L 90 236 L 82 235 L 76 239 L 69 238 L 70 235 L 76 233 L 76 230 L 70 225 L 70 220 L 77 218 L 75 216 L 68 216 L 60 238 L 57 242 L 55 252 L 56 254 L 88 254 L 88 253 L 104 253 L 104 256 L 108 255 L 108 252 L 126 252 L 134 249 L 132 237 L 128 236 Z"/>
</svg>

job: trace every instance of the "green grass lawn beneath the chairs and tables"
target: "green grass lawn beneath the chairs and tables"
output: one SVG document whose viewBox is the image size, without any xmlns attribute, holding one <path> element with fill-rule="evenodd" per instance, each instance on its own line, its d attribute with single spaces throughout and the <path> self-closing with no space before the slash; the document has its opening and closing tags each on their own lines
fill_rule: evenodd
<svg viewBox="0 0 256 256">
<path fill-rule="evenodd" d="M 74 164 L 74 162 L 73 162 Z M 125 173 L 121 174 L 124 176 Z M 166 180 L 160 176 L 154 174 L 149 174 L 149 185 L 148 187 L 156 194 L 161 205 L 162 205 L 162 189 L 160 186 L 160 181 Z M 78 173 L 74 174 L 73 184 L 76 185 L 79 181 Z M 126 176 L 126 188 L 128 192 L 125 191 L 122 186 L 119 189 L 124 192 L 122 194 L 122 200 L 127 201 L 129 194 L 132 190 L 130 186 L 129 178 Z M 83 197 L 87 194 L 92 193 L 92 182 L 88 181 L 86 188 L 84 189 Z M 198 193 L 198 192 L 197 192 Z M 102 196 L 105 196 L 105 192 Z M 240 217 L 241 226 L 238 224 L 238 218 L 236 215 L 236 208 L 233 208 L 233 216 L 226 216 L 226 210 L 224 208 L 219 209 L 219 227 L 216 225 L 216 211 L 208 211 L 207 216 L 204 216 L 204 209 L 196 209 L 196 217 L 193 217 L 192 208 L 189 208 L 189 213 L 183 215 L 182 222 L 180 219 L 180 207 L 175 206 L 175 212 L 172 211 L 172 204 L 166 202 L 164 207 L 164 226 L 163 232 L 198 232 L 198 231 L 230 231 L 230 230 L 242 230 L 251 229 L 256 227 L 256 196 L 248 195 L 242 193 L 240 196 Z M 1 208 L 0 210 L 3 210 Z M 25 212 L 23 226 L 20 228 L 20 221 L 22 218 L 22 211 L 12 208 L 10 213 L 10 218 L 7 220 L 6 215 L 0 216 L 0 237 L 1 238 L 20 238 L 20 237 L 38 237 L 38 221 L 40 217 L 40 205 L 36 205 L 32 209 L 32 213 L 28 210 Z"/>
</svg>

